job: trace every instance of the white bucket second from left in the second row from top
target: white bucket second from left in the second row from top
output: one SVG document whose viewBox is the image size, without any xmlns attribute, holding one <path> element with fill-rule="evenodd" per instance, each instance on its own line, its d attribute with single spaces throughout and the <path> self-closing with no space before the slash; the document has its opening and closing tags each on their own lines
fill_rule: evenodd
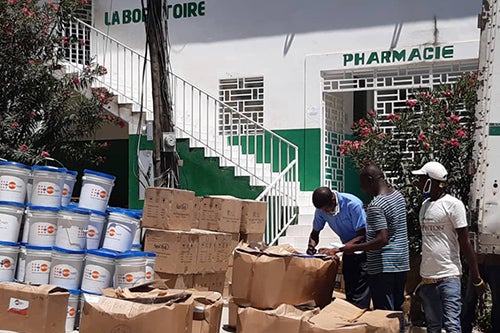
<svg viewBox="0 0 500 333">
<path fill-rule="evenodd" d="M 58 208 L 28 206 L 26 224 L 29 226 L 28 244 L 54 246 L 57 231 Z"/>
</svg>

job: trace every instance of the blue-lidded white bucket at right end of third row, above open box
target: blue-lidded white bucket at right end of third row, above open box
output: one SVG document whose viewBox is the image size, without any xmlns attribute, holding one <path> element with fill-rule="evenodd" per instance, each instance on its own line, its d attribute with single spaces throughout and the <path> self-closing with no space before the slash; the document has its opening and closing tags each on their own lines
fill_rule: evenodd
<svg viewBox="0 0 500 333">
<path fill-rule="evenodd" d="M 130 251 L 116 256 L 114 288 L 133 287 L 145 282 L 146 254 Z"/>
</svg>

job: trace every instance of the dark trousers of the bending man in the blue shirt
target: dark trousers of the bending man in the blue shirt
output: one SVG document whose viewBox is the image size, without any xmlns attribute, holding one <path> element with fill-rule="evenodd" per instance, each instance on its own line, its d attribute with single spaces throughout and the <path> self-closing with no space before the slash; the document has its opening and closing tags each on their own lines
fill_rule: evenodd
<svg viewBox="0 0 500 333">
<path fill-rule="evenodd" d="M 360 308 L 370 307 L 370 287 L 366 272 L 366 253 L 342 256 L 345 296 L 348 302 Z"/>
</svg>

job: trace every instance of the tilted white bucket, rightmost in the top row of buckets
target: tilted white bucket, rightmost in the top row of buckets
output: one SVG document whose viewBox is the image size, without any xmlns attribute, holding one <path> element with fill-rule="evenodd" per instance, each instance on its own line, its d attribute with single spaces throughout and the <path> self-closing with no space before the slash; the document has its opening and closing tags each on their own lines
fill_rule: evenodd
<svg viewBox="0 0 500 333">
<path fill-rule="evenodd" d="M 106 212 L 115 176 L 92 170 L 83 170 L 82 190 L 78 207 Z"/>
</svg>

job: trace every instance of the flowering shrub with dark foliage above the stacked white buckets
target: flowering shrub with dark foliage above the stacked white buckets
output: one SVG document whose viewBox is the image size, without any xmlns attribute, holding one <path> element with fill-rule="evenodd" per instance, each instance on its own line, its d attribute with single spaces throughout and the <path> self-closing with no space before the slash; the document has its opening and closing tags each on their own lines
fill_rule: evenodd
<svg viewBox="0 0 500 333">
<path fill-rule="evenodd" d="M 104 161 L 106 146 L 79 139 L 108 121 L 112 94 L 88 90 L 107 70 L 89 63 L 66 74 L 61 66 L 69 47 L 85 43 L 63 32 L 87 3 L 0 0 L 0 157 L 26 164 L 44 157 Z"/>
</svg>

